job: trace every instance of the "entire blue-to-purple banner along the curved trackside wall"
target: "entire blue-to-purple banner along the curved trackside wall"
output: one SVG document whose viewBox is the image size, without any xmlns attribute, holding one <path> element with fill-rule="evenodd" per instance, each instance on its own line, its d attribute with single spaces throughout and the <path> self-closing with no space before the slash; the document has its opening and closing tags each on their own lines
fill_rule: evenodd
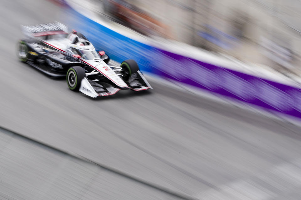
<svg viewBox="0 0 301 200">
<path fill-rule="evenodd" d="M 125 37 L 70 9 L 69 24 L 117 62 L 135 59 L 140 69 L 263 109 L 301 118 L 301 89 L 204 63 Z M 231 66 L 229 66 L 231 67 Z M 155 88 L 156 89 L 156 88 Z"/>
</svg>

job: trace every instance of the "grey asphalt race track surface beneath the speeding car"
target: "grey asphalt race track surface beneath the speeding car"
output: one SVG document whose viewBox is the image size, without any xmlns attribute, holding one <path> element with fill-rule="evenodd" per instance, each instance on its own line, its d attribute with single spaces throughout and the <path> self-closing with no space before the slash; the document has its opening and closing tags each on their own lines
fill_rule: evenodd
<svg viewBox="0 0 301 200">
<path fill-rule="evenodd" d="M 155 89 L 144 93 L 121 91 L 92 99 L 72 92 L 65 80 L 51 79 L 19 62 L 15 49 L 22 38 L 20 24 L 64 22 L 66 12 L 44 0 L 1 3 L 1 127 L 187 198 L 300 199 L 299 127 L 154 81 L 150 84 Z M 19 147 L 11 150 L 22 152 Z M 31 165 L 36 166 L 34 162 Z M 2 165 L 10 168 L 14 164 Z M 176 199 L 117 174 L 102 174 L 98 189 L 107 188 L 108 193 L 101 196 L 105 189 L 96 188 L 96 196 Z M 5 176 L 0 173 L 0 194 L 15 199 L 4 188 L 17 191 L 18 176 Z M 32 179 L 26 184 L 32 184 Z M 140 186 L 147 192 L 141 192 Z M 34 189 L 39 190 L 26 192 L 34 193 Z M 18 192 L 22 196 L 23 190 Z M 64 199 L 72 198 L 66 195 Z"/>
</svg>

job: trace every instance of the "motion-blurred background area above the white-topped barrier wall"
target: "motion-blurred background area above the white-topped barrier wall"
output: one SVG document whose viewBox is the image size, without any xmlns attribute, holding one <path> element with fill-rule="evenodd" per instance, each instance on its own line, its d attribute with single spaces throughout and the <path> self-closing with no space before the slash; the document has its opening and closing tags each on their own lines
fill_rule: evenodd
<svg viewBox="0 0 301 200">
<path fill-rule="evenodd" d="M 299 0 L 90 0 L 114 22 L 301 75 Z"/>
</svg>

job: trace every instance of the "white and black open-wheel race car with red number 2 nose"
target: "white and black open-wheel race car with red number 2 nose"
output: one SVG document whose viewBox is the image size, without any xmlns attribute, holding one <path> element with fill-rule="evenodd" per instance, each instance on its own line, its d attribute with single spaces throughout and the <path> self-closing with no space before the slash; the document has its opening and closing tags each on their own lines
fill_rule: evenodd
<svg viewBox="0 0 301 200">
<path fill-rule="evenodd" d="M 96 52 L 81 33 L 59 22 L 21 26 L 28 37 L 18 42 L 18 57 L 51 77 L 65 77 L 68 87 L 90 97 L 108 96 L 119 90 L 152 89 L 138 64 L 126 60 L 120 66 L 108 65 L 109 56 Z"/>
</svg>

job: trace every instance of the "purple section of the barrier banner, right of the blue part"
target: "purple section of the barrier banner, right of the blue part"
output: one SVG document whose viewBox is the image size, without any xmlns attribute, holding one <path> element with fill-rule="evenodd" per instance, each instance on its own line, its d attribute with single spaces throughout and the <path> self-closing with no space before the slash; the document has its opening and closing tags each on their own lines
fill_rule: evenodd
<svg viewBox="0 0 301 200">
<path fill-rule="evenodd" d="M 301 90 L 298 88 L 164 50 L 157 51 L 152 66 L 162 77 L 301 118 Z"/>
</svg>

